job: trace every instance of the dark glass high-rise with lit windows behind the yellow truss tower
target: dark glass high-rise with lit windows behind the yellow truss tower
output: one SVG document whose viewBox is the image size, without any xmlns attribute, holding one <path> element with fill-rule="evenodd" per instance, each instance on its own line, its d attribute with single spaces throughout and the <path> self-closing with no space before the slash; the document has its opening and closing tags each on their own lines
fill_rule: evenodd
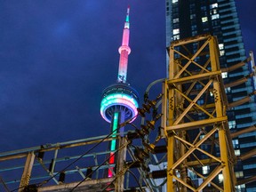
<svg viewBox="0 0 256 192">
<path fill-rule="evenodd" d="M 166 0 L 166 47 L 169 47 L 174 40 L 203 34 L 218 37 L 220 68 L 230 68 L 237 63 L 246 63 L 236 70 L 222 72 L 224 84 L 244 79 L 239 84 L 226 87 L 229 103 L 244 97 L 248 98 L 248 95 L 251 97 L 251 100 L 247 100 L 244 104 L 228 110 L 228 126 L 231 132 L 252 126 L 255 128 L 256 105 L 255 82 L 252 79 L 253 69 L 250 59 L 246 59 L 235 0 Z M 196 47 L 191 47 L 191 49 L 196 49 Z M 199 115 L 197 117 L 200 118 Z M 256 147 L 255 136 L 256 132 L 247 132 L 233 138 L 236 156 Z M 236 179 L 242 180 L 255 175 L 255 162 L 255 156 L 243 161 L 243 164 L 241 161 L 237 161 Z M 202 172 L 204 173 L 204 170 Z M 256 191 L 256 181 L 242 184 L 237 187 L 237 190 Z"/>
</svg>

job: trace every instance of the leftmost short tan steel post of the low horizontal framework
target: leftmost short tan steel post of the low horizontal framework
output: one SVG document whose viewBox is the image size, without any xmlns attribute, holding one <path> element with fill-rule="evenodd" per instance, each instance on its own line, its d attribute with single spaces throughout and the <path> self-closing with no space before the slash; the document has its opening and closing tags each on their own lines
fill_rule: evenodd
<svg viewBox="0 0 256 192">
<path fill-rule="evenodd" d="M 24 171 L 21 176 L 20 180 L 20 187 L 19 187 L 19 192 L 23 191 L 26 186 L 28 186 L 33 164 L 35 160 L 35 154 L 33 152 L 28 153 L 27 160 L 25 163 Z"/>
</svg>

